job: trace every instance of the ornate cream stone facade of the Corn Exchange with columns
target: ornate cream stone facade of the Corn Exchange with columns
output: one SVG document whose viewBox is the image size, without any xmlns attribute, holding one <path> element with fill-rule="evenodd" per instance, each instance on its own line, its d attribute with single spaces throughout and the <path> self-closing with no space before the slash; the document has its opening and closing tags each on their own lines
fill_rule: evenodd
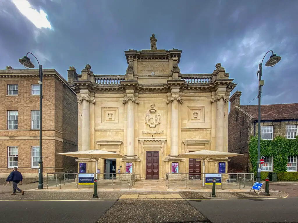
<svg viewBox="0 0 298 223">
<path fill-rule="evenodd" d="M 236 84 L 220 63 L 209 74 L 181 74 L 178 49 L 129 49 L 125 57 L 125 75 L 95 75 L 90 65 L 79 75 L 68 70 L 78 99 L 79 150 L 120 153 L 125 158 L 117 159 L 116 169 L 125 172 L 132 162 L 138 179 L 146 178 L 150 151 L 158 154 L 157 177 L 164 178 L 172 162 L 188 172 L 188 159 L 177 158 L 181 153 L 228 150 L 228 102 Z M 95 171 L 94 161 L 78 161 Z M 207 162 L 206 172 L 218 172 L 220 161 Z M 104 161 L 98 169 L 104 172 Z"/>
</svg>

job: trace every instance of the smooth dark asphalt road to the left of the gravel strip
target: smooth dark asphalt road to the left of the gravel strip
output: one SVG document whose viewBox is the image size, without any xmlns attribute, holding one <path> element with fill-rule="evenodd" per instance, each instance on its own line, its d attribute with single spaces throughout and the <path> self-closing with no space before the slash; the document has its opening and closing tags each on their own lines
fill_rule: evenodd
<svg viewBox="0 0 298 223">
<path fill-rule="evenodd" d="M 0 201 L 1 223 L 96 222 L 115 201 Z"/>
</svg>

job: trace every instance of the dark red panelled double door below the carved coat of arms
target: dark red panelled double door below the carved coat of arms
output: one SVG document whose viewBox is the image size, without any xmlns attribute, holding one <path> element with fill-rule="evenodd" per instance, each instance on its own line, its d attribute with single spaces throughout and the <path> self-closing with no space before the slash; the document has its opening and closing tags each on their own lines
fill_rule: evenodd
<svg viewBox="0 0 298 223">
<path fill-rule="evenodd" d="M 146 151 L 146 180 L 159 179 L 159 151 Z"/>
</svg>

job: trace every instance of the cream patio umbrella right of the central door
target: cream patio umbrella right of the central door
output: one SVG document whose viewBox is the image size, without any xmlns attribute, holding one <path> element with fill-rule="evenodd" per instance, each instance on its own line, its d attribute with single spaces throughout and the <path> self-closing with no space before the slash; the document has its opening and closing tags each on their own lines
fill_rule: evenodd
<svg viewBox="0 0 298 223">
<path fill-rule="evenodd" d="M 232 156 L 239 156 L 243 154 L 239 153 L 227 153 L 214 150 L 198 150 L 195 152 L 184 153 L 177 156 L 177 158 L 190 158 L 201 159 L 203 161 L 203 186 L 204 186 L 204 174 L 205 174 L 205 161 L 208 159 L 228 158 Z"/>
</svg>

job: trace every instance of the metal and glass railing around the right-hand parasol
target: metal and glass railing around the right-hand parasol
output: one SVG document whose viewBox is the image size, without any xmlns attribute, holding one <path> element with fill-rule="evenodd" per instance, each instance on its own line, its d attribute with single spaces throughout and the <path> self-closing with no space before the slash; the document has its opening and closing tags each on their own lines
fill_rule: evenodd
<svg viewBox="0 0 298 223">
<path fill-rule="evenodd" d="M 187 189 L 187 187 L 188 188 L 201 187 L 205 189 L 205 186 L 209 186 L 209 185 L 205 185 L 206 174 L 209 174 L 209 173 L 166 173 L 165 184 L 167 186 L 167 189 L 169 189 L 170 187 L 170 182 L 173 183 L 174 188 L 177 188 L 177 186 L 183 186 L 183 187 L 185 186 L 185 189 Z M 231 189 L 231 187 L 234 187 L 235 189 L 240 190 L 241 186 L 245 188 L 246 186 L 248 185 L 252 186 L 253 184 L 254 184 L 253 173 L 222 173 L 221 174 L 221 185 L 220 185 L 221 189 L 224 189 L 224 187 L 225 188 L 228 187 L 226 189 Z"/>
</svg>

